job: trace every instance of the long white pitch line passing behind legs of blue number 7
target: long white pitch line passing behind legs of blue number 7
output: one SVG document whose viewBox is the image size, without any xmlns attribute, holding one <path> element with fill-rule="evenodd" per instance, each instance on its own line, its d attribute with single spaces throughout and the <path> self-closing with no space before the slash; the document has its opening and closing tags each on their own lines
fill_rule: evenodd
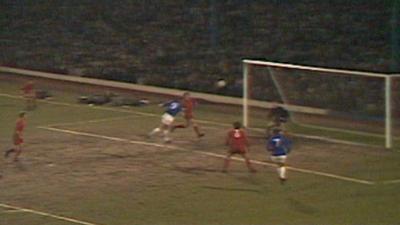
<svg viewBox="0 0 400 225">
<path fill-rule="evenodd" d="M 53 127 L 38 127 L 38 128 L 45 129 L 45 130 L 50 130 L 50 131 L 61 132 L 61 133 L 73 134 L 73 135 L 101 138 L 101 139 L 106 139 L 106 140 L 111 140 L 111 141 L 118 141 L 118 142 L 125 142 L 125 143 L 131 143 L 131 144 L 153 146 L 153 147 L 159 147 L 159 148 L 168 148 L 168 149 L 180 150 L 180 151 L 189 151 L 189 150 L 181 148 L 181 147 L 171 146 L 171 145 L 166 145 L 166 144 L 156 144 L 156 143 L 150 143 L 150 142 L 144 142 L 144 141 L 132 141 L 132 140 L 124 139 L 124 138 L 110 137 L 110 136 L 105 136 L 105 135 L 99 135 L 99 134 L 93 134 L 93 133 L 87 133 L 87 132 L 80 132 L 80 131 L 73 131 L 73 130 L 66 130 L 66 129 L 59 129 L 59 128 L 53 128 Z M 211 152 L 205 152 L 205 151 L 200 151 L 200 150 L 190 150 L 190 151 L 196 152 L 196 153 L 199 153 L 199 154 L 202 154 L 202 155 L 217 157 L 217 158 L 225 158 L 226 157 L 225 155 L 211 153 Z M 244 160 L 244 159 L 238 158 L 238 157 L 233 157 L 232 159 L 234 159 L 236 161 L 243 161 Z M 259 164 L 259 165 L 275 167 L 275 164 L 273 164 L 273 163 L 267 163 L 267 162 L 258 161 L 258 160 L 251 160 L 251 162 L 253 162 L 255 164 Z M 366 184 L 366 185 L 375 185 L 376 184 L 373 181 L 361 180 L 361 179 L 356 179 L 356 178 L 346 177 L 346 176 L 340 176 L 340 175 L 335 175 L 335 174 L 330 174 L 330 173 L 325 173 L 325 172 L 319 172 L 319 171 L 313 171 L 313 170 L 307 170 L 307 169 L 301 169 L 301 168 L 295 168 L 295 167 L 287 167 L 287 168 L 289 170 L 296 171 L 296 172 L 301 172 L 301 173 L 306 173 L 306 174 L 313 174 L 313 175 L 318 175 L 318 176 L 323 176 L 323 177 L 329 177 L 329 178 L 343 180 L 343 181 L 349 181 L 349 182 L 353 182 L 353 183 Z"/>
</svg>

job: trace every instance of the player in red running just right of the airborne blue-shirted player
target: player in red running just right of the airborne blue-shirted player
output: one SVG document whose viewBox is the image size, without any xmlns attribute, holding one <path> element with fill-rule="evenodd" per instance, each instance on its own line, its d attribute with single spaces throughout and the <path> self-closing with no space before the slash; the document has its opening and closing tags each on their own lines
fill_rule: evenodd
<svg viewBox="0 0 400 225">
<path fill-rule="evenodd" d="M 178 124 L 172 127 L 172 131 L 177 128 L 186 128 L 189 126 L 193 127 L 194 132 L 196 133 L 197 137 L 203 137 L 204 133 L 200 132 L 200 128 L 196 122 L 193 120 L 193 109 L 196 105 L 196 102 L 193 98 L 190 97 L 189 92 L 183 93 L 182 96 L 182 106 L 185 118 L 185 124 Z"/>
</svg>

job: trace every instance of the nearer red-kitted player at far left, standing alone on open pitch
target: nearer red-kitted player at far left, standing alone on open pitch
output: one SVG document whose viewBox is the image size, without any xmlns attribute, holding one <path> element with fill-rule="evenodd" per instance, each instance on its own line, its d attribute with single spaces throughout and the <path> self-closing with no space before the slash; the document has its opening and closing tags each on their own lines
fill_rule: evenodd
<svg viewBox="0 0 400 225">
<path fill-rule="evenodd" d="M 15 153 L 14 155 L 14 161 L 18 161 L 18 157 L 22 152 L 22 144 L 24 143 L 23 139 L 23 131 L 26 127 L 26 117 L 25 117 L 25 112 L 20 112 L 19 113 L 19 118 L 17 119 L 17 122 L 15 123 L 15 130 L 13 134 L 13 142 L 14 142 L 14 147 L 7 150 L 4 154 L 4 156 L 7 158 L 11 153 Z"/>
</svg>

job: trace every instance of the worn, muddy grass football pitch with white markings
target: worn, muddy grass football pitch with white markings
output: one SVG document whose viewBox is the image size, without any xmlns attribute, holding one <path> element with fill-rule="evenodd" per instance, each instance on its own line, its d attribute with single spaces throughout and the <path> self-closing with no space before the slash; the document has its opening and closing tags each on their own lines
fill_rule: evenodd
<svg viewBox="0 0 400 225">
<path fill-rule="evenodd" d="M 0 77 L 1 154 L 11 146 L 24 108 L 23 81 Z M 398 224 L 400 154 L 396 151 L 294 138 L 289 180 L 281 185 L 262 133 L 249 130 L 249 173 L 235 158 L 221 173 L 225 135 L 240 108 L 200 102 L 191 128 L 173 142 L 146 134 L 159 125 L 163 96 L 132 93 L 155 104 L 88 106 L 102 93 L 37 83 L 52 99 L 28 112 L 19 162 L 0 159 L 1 225 L 267 225 Z M 84 89 L 83 89 L 84 88 Z M 124 93 L 127 94 L 127 93 Z M 264 119 L 264 118 L 260 118 Z M 177 123 L 182 122 L 178 118 Z"/>
</svg>

